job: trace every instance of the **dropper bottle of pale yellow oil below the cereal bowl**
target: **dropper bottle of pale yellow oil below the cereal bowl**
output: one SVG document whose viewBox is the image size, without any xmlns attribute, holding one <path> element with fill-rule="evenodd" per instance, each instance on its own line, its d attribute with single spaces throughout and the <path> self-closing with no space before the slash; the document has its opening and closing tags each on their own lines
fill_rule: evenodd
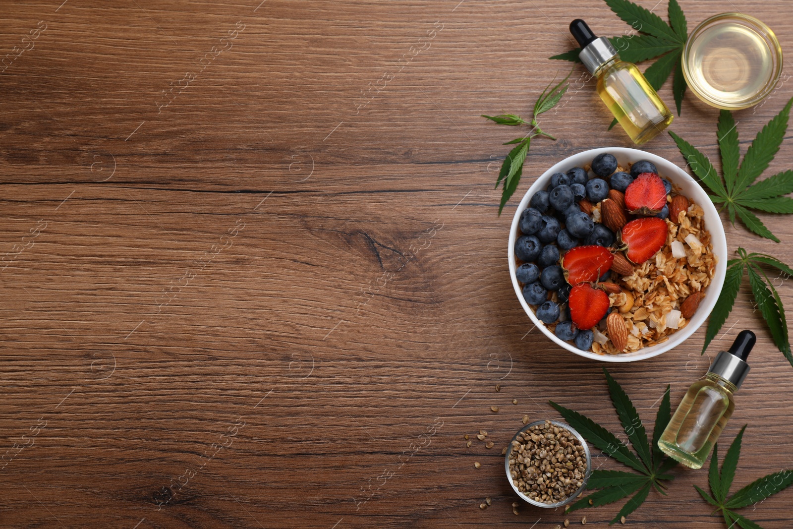
<svg viewBox="0 0 793 529">
<path fill-rule="evenodd" d="M 692 469 L 702 468 L 733 415 L 733 394 L 749 374 L 746 358 L 756 340 L 751 331 L 739 332 L 730 351 L 719 351 L 705 377 L 691 385 L 658 439 L 665 454 Z"/>
</svg>

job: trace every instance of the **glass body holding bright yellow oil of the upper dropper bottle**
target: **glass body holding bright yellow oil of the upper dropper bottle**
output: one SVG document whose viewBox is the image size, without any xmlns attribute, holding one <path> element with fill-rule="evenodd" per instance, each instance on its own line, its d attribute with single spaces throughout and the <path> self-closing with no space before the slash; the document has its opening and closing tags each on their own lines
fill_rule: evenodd
<svg viewBox="0 0 793 529">
<path fill-rule="evenodd" d="M 618 59 L 596 75 L 597 93 L 635 144 L 644 144 L 672 123 L 672 113 L 635 64 Z"/>
</svg>

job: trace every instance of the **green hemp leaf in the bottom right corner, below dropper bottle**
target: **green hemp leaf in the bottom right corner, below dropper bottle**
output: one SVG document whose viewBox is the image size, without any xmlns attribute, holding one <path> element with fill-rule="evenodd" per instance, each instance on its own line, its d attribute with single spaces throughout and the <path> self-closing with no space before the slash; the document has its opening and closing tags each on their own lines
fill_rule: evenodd
<svg viewBox="0 0 793 529">
<path fill-rule="evenodd" d="M 741 439 L 743 439 L 745 429 L 745 426 L 741 428 L 740 433 L 730 445 L 730 449 L 727 450 L 724 462 L 722 462 L 721 473 L 718 471 L 718 444 L 714 445 L 713 454 L 711 455 L 711 467 L 707 478 L 711 493 L 706 493 L 697 485 L 694 485 L 694 488 L 703 497 L 703 500 L 715 507 L 714 514 L 716 512 L 722 513 L 727 527 L 763 529 L 752 520 L 734 512 L 734 509 L 757 504 L 757 502 L 765 500 L 768 496 L 773 496 L 783 489 L 787 489 L 788 486 L 793 484 L 793 470 L 782 470 L 760 477 L 757 481 L 749 483 L 749 485 L 746 485 L 728 498 L 727 494 L 730 493 L 730 486 L 735 478 L 738 458 L 741 457 Z"/>
</svg>

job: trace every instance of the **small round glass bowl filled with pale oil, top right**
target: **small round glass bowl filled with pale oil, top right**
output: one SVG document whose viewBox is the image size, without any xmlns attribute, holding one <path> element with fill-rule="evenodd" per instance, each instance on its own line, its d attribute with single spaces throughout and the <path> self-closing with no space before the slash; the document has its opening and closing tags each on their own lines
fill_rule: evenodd
<svg viewBox="0 0 793 529">
<path fill-rule="evenodd" d="M 755 17 L 722 13 L 688 36 L 683 75 L 708 105 L 737 110 L 757 105 L 782 73 L 782 48 L 774 32 Z"/>
</svg>

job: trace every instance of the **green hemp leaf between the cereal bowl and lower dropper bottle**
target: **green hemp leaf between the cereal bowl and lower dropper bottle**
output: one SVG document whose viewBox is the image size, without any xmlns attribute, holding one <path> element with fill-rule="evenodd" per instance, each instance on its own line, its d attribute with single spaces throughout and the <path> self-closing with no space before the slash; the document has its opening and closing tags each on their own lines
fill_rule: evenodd
<svg viewBox="0 0 793 529">
<path fill-rule="evenodd" d="M 769 178 L 770 179 L 770 178 Z M 785 320 L 785 309 L 782 305 L 780 294 L 774 288 L 773 279 L 768 278 L 768 274 L 762 268 L 763 265 L 770 266 L 778 271 L 776 278 L 783 279 L 793 276 L 793 269 L 782 263 L 779 259 L 771 255 L 751 253 L 738 247 L 737 254 L 739 259 L 727 261 L 727 273 L 724 278 L 722 293 L 718 295 L 718 301 L 711 312 L 710 320 L 707 322 L 707 332 L 705 332 L 705 344 L 702 351 L 705 352 L 711 340 L 718 335 L 719 329 L 727 320 L 730 311 L 735 304 L 738 290 L 741 289 L 744 270 L 749 274 L 749 286 L 752 288 L 754 300 L 760 315 L 763 316 L 771 337 L 779 347 L 787 361 L 793 366 L 793 355 L 791 355 L 790 338 L 787 335 L 787 321 Z"/>
</svg>

